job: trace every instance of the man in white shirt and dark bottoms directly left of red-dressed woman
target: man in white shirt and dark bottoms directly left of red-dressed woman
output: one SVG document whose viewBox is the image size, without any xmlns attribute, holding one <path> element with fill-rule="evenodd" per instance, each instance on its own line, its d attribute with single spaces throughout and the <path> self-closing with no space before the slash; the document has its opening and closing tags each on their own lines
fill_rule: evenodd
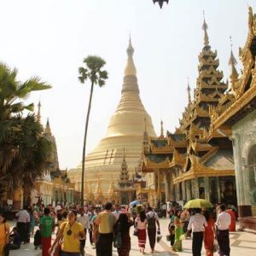
<svg viewBox="0 0 256 256">
<path fill-rule="evenodd" d="M 204 230 L 207 227 L 207 219 L 201 215 L 201 209 L 195 208 L 195 215 L 189 219 L 188 230 L 192 230 L 192 253 L 193 256 L 201 256 L 201 246 L 204 238 Z"/>
</svg>

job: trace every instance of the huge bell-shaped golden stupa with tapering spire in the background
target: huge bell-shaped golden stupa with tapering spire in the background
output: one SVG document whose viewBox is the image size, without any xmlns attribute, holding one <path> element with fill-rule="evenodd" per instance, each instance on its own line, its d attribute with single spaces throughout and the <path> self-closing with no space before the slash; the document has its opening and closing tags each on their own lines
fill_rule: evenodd
<svg viewBox="0 0 256 256">
<path fill-rule="evenodd" d="M 106 137 L 86 155 L 86 201 L 90 201 L 91 193 L 94 198 L 102 198 L 103 195 L 104 200 L 101 201 L 109 200 L 113 195 L 113 191 L 110 190 L 118 186 L 124 148 L 127 166 L 132 175 L 142 154 L 144 130 L 147 130 L 148 137 L 156 137 L 151 118 L 143 107 L 139 95 L 131 38 L 126 52 L 128 59 L 118 108 L 110 119 Z M 68 172 L 72 182 L 76 183 L 76 189 L 81 185 L 81 166 L 82 164 Z M 90 193 L 87 193 L 89 190 Z"/>
</svg>

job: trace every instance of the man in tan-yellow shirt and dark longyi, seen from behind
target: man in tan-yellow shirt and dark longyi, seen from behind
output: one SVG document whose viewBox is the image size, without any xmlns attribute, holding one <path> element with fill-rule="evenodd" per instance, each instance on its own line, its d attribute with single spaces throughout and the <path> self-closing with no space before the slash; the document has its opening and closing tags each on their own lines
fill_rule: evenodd
<svg viewBox="0 0 256 256">
<path fill-rule="evenodd" d="M 111 210 L 112 203 L 106 203 L 105 210 L 100 212 L 95 220 L 95 223 L 99 226 L 96 256 L 112 256 L 113 225 L 116 223 L 116 218 Z"/>
</svg>

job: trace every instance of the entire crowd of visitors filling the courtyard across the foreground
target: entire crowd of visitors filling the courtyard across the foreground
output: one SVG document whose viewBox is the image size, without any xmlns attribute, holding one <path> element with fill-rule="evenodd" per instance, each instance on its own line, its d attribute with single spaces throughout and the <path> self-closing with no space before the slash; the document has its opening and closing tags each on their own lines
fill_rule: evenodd
<svg viewBox="0 0 256 256">
<path fill-rule="evenodd" d="M 169 236 L 174 252 L 183 250 L 183 239 L 192 235 L 193 256 L 201 255 L 204 247 L 207 256 L 212 256 L 218 241 L 219 255 L 230 255 L 229 229 L 230 214 L 224 205 L 218 207 L 218 216 L 206 209 L 181 209 L 178 205 L 167 209 Z M 30 242 L 34 237 L 35 249 L 40 247 L 43 256 L 84 255 L 87 233 L 90 245 L 96 249 L 97 256 L 111 256 L 113 247 L 120 256 L 128 256 L 131 251 L 131 232 L 137 236 L 137 247 L 145 253 L 147 237 L 151 253 L 156 241 L 161 239 L 158 214 L 150 206 L 113 206 L 108 202 L 102 207 L 51 205 L 44 207 L 24 207 L 17 212 L 17 225 L 10 232 L 9 224 L 0 214 L 0 256 L 5 255 L 6 244 L 9 250 L 19 249 L 21 243 Z M 38 226 L 35 232 L 35 226 Z M 191 234 L 192 233 L 192 234 Z M 52 242 L 52 236 L 55 240 Z"/>
</svg>

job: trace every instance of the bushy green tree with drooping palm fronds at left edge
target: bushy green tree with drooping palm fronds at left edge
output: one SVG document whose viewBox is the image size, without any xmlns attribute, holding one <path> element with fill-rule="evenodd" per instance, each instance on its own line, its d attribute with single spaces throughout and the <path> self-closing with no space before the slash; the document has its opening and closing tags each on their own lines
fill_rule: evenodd
<svg viewBox="0 0 256 256">
<path fill-rule="evenodd" d="M 33 91 L 49 89 L 38 77 L 17 79 L 17 69 L 0 63 L 0 195 L 23 187 L 28 198 L 33 183 L 48 162 L 50 143 L 42 136 L 43 127 L 26 100 Z M 29 113 L 24 117 L 24 111 Z"/>
</svg>

